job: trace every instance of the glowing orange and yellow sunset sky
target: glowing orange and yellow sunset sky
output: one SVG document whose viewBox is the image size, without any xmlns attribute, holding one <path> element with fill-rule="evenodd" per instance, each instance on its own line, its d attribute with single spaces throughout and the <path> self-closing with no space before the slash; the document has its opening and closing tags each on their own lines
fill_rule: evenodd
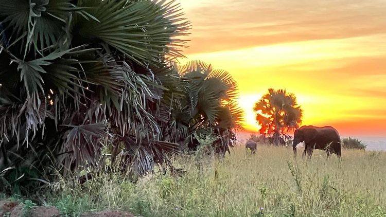
<svg viewBox="0 0 386 217">
<path fill-rule="evenodd" d="M 229 71 L 245 128 L 253 104 L 285 88 L 303 124 L 386 136 L 386 1 L 177 0 L 192 23 L 184 55 Z"/>
</svg>

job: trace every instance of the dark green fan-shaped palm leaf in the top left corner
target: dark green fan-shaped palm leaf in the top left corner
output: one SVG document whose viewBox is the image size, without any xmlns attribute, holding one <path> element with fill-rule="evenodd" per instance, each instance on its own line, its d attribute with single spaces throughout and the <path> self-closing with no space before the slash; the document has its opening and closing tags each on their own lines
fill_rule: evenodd
<svg viewBox="0 0 386 217">
<path fill-rule="evenodd" d="M 6 17 L 6 30 L 13 27 L 10 41 L 14 44 L 22 39 L 26 42 L 25 55 L 34 45 L 34 51 L 42 53 L 46 48 L 56 46 L 59 39 L 65 36 L 65 29 L 71 20 L 69 12 L 83 17 L 87 14 L 81 8 L 71 4 L 71 0 L 0 0 L 0 16 Z M 23 58 L 24 59 L 24 58 Z"/>
</svg>

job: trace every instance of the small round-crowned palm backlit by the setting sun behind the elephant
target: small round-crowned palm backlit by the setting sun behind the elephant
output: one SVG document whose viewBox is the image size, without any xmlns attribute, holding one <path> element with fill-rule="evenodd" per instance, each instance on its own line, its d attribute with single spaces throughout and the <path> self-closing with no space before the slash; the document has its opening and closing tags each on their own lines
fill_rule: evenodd
<svg viewBox="0 0 386 217">
<path fill-rule="evenodd" d="M 261 126 L 260 133 L 273 133 L 273 143 L 276 145 L 280 143 L 280 133 L 299 128 L 303 116 L 295 95 L 287 93 L 285 89 L 268 89 L 268 93 L 255 103 L 253 111 Z"/>
</svg>

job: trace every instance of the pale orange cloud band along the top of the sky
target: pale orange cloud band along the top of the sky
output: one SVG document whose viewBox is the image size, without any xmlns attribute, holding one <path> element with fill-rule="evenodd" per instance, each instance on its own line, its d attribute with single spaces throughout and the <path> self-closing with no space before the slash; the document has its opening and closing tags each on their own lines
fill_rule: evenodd
<svg viewBox="0 0 386 217">
<path fill-rule="evenodd" d="M 383 0 L 180 0 L 194 29 L 187 53 L 386 33 Z"/>
</svg>

